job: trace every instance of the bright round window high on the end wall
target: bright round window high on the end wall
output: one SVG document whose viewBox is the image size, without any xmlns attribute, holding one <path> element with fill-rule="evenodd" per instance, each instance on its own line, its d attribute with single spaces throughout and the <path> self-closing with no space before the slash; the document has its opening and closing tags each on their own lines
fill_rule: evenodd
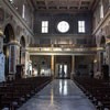
<svg viewBox="0 0 110 110">
<path fill-rule="evenodd" d="M 68 32 L 68 30 L 69 30 L 69 24 L 68 24 L 68 22 L 66 22 L 66 21 L 61 21 L 61 22 L 57 24 L 57 30 L 58 30 L 61 33 L 66 33 L 66 32 Z"/>
</svg>

